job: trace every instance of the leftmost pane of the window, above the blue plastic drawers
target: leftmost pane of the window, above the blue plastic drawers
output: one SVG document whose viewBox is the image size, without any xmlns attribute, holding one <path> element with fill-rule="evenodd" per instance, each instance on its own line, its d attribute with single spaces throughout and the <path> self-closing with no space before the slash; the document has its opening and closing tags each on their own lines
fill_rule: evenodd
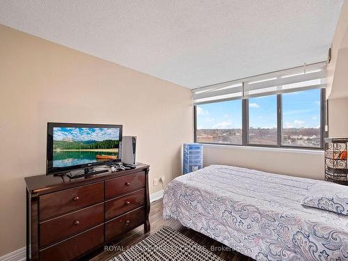
<svg viewBox="0 0 348 261">
<path fill-rule="evenodd" d="M 242 100 L 196 106 L 196 142 L 242 145 Z"/>
</svg>

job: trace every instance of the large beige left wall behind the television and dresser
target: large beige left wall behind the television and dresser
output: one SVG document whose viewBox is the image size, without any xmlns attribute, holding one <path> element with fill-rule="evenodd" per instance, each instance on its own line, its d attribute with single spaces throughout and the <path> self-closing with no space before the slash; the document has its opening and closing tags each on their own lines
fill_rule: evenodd
<svg viewBox="0 0 348 261">
<path fill-rule="evenodd" d="M 180 173 L 191 90 L 6 26 L 0 39 L 0 256 L 25 245 L 23 177 L 45 173 L 47 122 L 122 124 L 150 180 Z"/>
</svg>

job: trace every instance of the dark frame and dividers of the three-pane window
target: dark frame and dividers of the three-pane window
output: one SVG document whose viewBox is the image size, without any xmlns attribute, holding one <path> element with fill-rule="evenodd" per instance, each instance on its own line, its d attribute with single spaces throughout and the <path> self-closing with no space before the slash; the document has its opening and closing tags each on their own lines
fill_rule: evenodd
<svg viewBox="0 0 348 261">
<path fill-rule="evenodd" d="M 266 95 L 264 95 L 266 96 Z M 328 136 L 325 125 L 327 124 L 326 115 L 326 91 L 325 88 L 320 89 L 320 147 L 305 147 L 294 145 L 282 145 L 281 137 L 283 135 L 283 97 L 282 94 L 277 94 L 277 144 L 253 144 L 249 143 L 249 100 L 242 100 L 242 145 L 232 143 L 202 143 L 197 141 L 197 105 L 193 106 L 193 127 L 194 127 L 194 142 L 207 145 L 230 145 L 230 146 L 246 146 L 246 147 L 264 147 L 264 148 L 284 148 L 284 149 L 298 149 L 298 150 L 324 150 L 324 138 Z M 231 99 L 232 100 L 232 99 Z"/>
</svg>

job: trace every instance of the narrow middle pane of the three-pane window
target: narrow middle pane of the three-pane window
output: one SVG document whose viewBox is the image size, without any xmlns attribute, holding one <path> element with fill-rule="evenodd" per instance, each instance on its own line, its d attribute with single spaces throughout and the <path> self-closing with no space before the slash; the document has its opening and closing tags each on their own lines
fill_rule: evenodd
<svg viewBox="0 0 348 261">
<path fill-rule="evenodd" d="M 249 99 L 248 116 L 248 143 L 277 145 L 277 96 Z"/>
</svg>

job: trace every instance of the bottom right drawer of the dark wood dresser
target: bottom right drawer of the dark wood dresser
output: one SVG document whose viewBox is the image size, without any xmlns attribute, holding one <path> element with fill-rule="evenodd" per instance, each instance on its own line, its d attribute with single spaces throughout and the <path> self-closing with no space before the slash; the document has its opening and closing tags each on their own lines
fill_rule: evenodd
<svg viewBox="0 0 348 261">
<path fill-rule="evenodd" d="M 113 239 L 122 232 L 131 230 L 145 222 L 145 207 L 134 209 L 116 219 L 105 223 L 105 240 Z"/>
</svg>

